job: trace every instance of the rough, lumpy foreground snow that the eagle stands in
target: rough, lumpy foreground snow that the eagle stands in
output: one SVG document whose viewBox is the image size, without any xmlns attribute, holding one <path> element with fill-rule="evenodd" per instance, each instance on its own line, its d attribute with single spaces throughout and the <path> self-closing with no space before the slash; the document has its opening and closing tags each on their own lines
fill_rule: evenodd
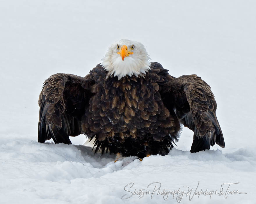
<svg viewBox="0 0 256 204">
<path fill-rule="evenodd" d="M 250 198 L 253 189 L 247 184 L 255 178 L 255 151 L 245 148 L 223 154 L 221 150 L 207 150 L 191 154 L 173 149 L 166 156 L 152 155 L 139 161 L 135 156 L 123 157 L 114 163 L 115 155 L 94 154 L 91 147 L 37 143 L 29 139 L 3 140 L 0 150 L 0 196 L 4 203 L 54 202 L 111 203 L 163 202 L 163 196 L 138 195 L 123 200 L 128 183 L 134 188 L 146 188 L 152 182 L 176 190 L 182 186 L 195 189 L 200 181 L 202 189 L 219 189 L 222 183 L 241 182 L 235 187 L 247 194 L 195 197 L 191 202 L 214 202 L 224 199 L 236 203 L 237 198 Z M 238 176 L 240 175 L 240 176 Z M 13 194 L 15 192 L 15 194 Z M 128 195 L 130 195 L 129 193 Z M 177 202 L 176 197 L 168 200 Z M 182 198 L 188 202 L 189 198 Z M 249 202 L 250 200 L 248 200 Z"/>
</svg>

